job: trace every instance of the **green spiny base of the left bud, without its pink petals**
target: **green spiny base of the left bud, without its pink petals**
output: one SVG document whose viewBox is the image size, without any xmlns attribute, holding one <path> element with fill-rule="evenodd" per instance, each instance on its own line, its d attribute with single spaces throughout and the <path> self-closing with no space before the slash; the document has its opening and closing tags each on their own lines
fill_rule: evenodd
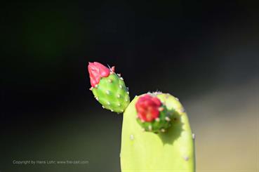
<svg viewBox="0 0 259 172">
<path fill-rule="evenodd" d="M 124 112 L 130 102 L 124 80 L 115 73 L 100 79 L 98 86 L 92 88 L 92 91 L 102 107 L 112 112 Z"/>
</svg>

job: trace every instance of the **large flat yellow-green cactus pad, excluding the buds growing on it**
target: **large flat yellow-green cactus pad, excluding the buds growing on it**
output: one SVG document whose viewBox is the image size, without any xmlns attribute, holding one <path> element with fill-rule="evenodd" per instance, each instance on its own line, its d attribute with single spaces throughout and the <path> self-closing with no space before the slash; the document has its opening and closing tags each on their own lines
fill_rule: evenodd
<svg viewBox="0 0 259 172">
<path fill-rule="evenodd" d="M 171 127 L 165 133 L 142 131 L 136 119 L 135 102 L 124 112 L 121 135 L 122 172 L 194 172 L 194 140 L 187 114 L 177 98 L 157 93 L 168 110 L 174 110 Z"/>
</svg>

